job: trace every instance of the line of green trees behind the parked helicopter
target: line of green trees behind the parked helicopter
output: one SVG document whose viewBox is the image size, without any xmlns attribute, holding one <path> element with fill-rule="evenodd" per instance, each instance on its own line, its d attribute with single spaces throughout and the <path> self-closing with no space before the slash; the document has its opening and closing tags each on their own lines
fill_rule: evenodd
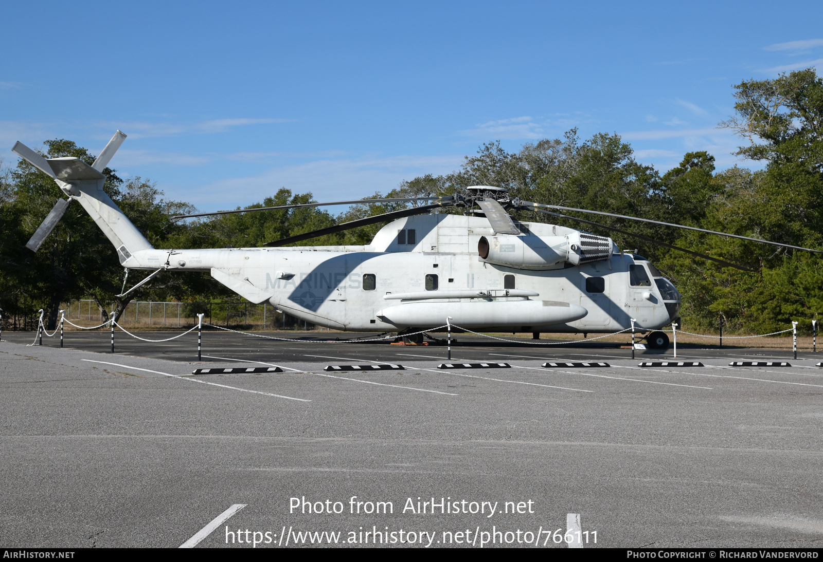
<svg viewBox="0 0 823 562">
<path fill-rule="evenodd" d="M 823 81 L 810 68 L 770 80 L 742 81 L 733 90 L 735 113 L 720 126 L 741 136 L 743 145 L 737 155 L 762 163 L 760 169 L 735 166 L 717 171 L 713 155 L 695 151 L 685 154 L 676 168 L 658 173 L 639 163 L 620 136 L 598 133 L 581 140 L 572 129 L 563 138 L 529 143 L 516 152 L 504 150 L 499 141 L 486 143 L 453 173 L 415 177 L 385 196 L 449 195 L 472 185 L 492 185 L 505 187 L 523 200 L 823 248 Z M 46 141 L 42 154 L 48 158 L 76 156 L 87 164 L 95 159 L 88 150 L 63 139 Z M 105 191 L 149 242 L 160 248 L 261 246 L 403 207 L 364 203 L 341 214 L 302 208 L 175 222 L 170 216 L 192 213 L 194 206 L 165 200 L 153 182 L 141 177 L 124 180 L 109 168 L 104 173 Z M 120 312 L 137 298 L 209 302 L 233 296 L 209 274 L 174 272 L 160 274 L 127 297 L 116 297 L 123 287 L 123 267 L 114 247 L 80 205 L 71 205 L 40 251 L 31 252 L 26 242 L 61 195 L 50 177 L 25 160 L 0 173 L 0 307 L 4 318 L 14 319 L 15 327 L 21 327 L 39 308 L 48 311 L 53 327 L 60 302 L 81 297 L 95 299 L 104 318 L 105 302 L 115 302 Z M 380 196 L 375 193 L 369 198 Z M 247 208 L 313 201 L 310 193 L 283 188 Z M 515 214 L 529 222 L 560 223 L 610 236 L 622 248 L 636 248 L 677 285 L 683 295 L 681 316 L 691 329 L 716 329 L 722 320 L 727 329 L 764 333 L 801 320 L 800 328 L 809 331 L 809 320 L 823 312 L 819 254 L 574 212 L 564 214 L 602 227 L 530 211 Z M 296 245 L 367 244 L 382 226 L 374 224 Z M 654 242 L 750 270 L 725 267 Z"/>
</svg>

